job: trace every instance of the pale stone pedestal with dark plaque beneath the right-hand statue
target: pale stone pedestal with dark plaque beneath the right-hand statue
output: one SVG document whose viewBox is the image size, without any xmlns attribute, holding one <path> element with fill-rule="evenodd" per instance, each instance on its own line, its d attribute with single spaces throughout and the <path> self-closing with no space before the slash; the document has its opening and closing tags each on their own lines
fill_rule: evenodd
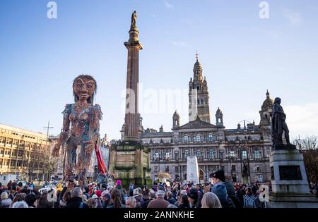
<svg viewBox="0 0 318 222">
<path fill-rule="evenodd" d="M 316 208 L 318 198 L 310 193 L 305 164 L 297 149 L 276 147 L 269 158 L 272 208 Z"/>
</svg>

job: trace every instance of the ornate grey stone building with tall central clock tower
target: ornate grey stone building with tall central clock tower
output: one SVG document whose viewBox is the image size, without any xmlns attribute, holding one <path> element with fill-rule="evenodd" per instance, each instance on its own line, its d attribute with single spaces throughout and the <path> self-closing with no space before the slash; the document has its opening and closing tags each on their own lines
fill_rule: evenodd
<svg viewBox="0 0 318 222">
<path fill-rule="evenodd" d="M 202 70 L 196 58 L 194 77 L 189 82 L 189 123 L 180 125 L 179 114 L 175 111 L 171 132 L 164 132 L 161 126 L 159 132 L 148 128 L 141 133 L 143 144 L 151 149 L 152 180 L 158 179 L 160 171 L 170 173 L 172 180 L 187 180 L 187 156 L 196 156 L 201 182 L 207 182 L 209 175 L 220 168 L 234 182 L 269 181 L 273 105 L 269 92 L 259 111 L 259 125 L 242 121 L 243 125 L 240 122 L 236 129 L 226 129 L 219 108 L 216 123 L 210 123 L 208 86 Z M 197 99 L 196 103 L 193 98 Z"/>
</svg>

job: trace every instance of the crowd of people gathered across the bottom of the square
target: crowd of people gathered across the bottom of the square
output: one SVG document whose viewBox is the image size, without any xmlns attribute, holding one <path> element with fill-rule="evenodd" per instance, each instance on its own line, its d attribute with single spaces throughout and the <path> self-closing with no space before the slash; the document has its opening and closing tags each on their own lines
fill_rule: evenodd
<svg viewBox="0 0 318 222">
<path fill-rule="evenodd" d="M 152 187 L 134 187 L 127 190 L 117 180 L 114 187 L 98 187 L 89 183 L 79 187 L 75 180 L 54 190 L 39 192 L 33 183 L 0 184 L 0 208 L 245 208 L 265 207 L 259 201 L 264 190 L 259 184 L 233 185 L 223 170 L 213 173 L 211 183 L 155 183 Z"/>
</svg>

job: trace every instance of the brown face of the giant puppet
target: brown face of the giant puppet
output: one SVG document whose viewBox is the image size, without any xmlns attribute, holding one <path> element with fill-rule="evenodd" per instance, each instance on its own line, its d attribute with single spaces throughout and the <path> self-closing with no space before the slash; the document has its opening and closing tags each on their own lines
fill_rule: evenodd
<svg viewBox="0 0 318 222">
<path fill-rule="evenodd" d="M 92 78 L 76 78 L 73 82 L 73 90 L 78 100 L 89 100 L 93 96 L 96 88 L 95 80 Z"/>
</svg>

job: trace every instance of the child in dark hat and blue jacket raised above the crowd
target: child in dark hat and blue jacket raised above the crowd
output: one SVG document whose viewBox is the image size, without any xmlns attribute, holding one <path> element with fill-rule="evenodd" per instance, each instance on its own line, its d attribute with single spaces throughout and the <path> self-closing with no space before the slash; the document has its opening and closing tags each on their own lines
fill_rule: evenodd
<svg viewBox="0 0 318 222">
<path fill-rule="evenodd" d="M 232 202 L 232 199 L 228 197 L 228 192 L 226 190 L 225 185 L 222 181 L 225 180 L 224 171 L 218 170 L 215 173 L 213 173 L 212 176 L 212 192 L 218 196 L 218 199 L 220 200 L 220 203 L 223 208 L 235 208 L 234 203 Z"/>
</svg>

